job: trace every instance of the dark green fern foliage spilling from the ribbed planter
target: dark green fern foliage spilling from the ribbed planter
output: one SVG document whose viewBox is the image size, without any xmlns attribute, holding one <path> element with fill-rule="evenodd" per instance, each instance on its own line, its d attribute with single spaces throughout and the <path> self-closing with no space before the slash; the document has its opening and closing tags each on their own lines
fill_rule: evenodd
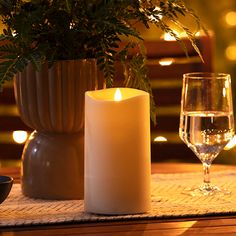
<svg viewBox="0 0 236 236">
<path fill-rule="evenodd" d="M 134 38 L 140 44 L 137 22 L 147 28 L 155 24 L 181 42 L 167 23 L 172 21 L 187 32 L 198 51 L 194 33 L 179 22 L 179 15 L 190 15 L 199 24 L 182 0 L 0 0 L 5 26 L 0 36 L 0 86 L 28 63 L 39 69 L 46 61 L 52 65 L 56 60 L 96 58 L 110 87 L 115 60 L 127 59 Z M 121 49 L 123 38 L 129 42 Z M 135 55 L 125 85 L 151 93 L 144 63 L 143 53 Z"/>
</svg>

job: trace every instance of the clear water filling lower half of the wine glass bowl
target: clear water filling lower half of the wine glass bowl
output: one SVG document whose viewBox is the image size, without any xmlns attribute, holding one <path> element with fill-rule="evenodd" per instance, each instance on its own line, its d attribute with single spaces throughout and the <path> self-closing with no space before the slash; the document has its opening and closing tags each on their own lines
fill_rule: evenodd
<svg viewBox="0 0 236 236">
<path fill-rule="evenodd" d="M 211 164 L 234 136 L 233 122 L 232 113 L 183 112 L 180 137 L 202 162 Z"/>
</svg>

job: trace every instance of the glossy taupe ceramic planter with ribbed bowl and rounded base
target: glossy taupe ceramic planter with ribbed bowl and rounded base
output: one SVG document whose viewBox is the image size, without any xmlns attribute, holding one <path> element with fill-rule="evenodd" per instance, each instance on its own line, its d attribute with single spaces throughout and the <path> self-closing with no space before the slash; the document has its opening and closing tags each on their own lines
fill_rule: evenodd
<svg viewBox="0 0 236 236">
<path fill-rule="evenodd" d="M 35 131 L 22 154 L 22 191 L 34 198 L 82 199 L 84 93 L 97 88 L 94 59 L 59 61 L 15 79 L 22 120 Z"/>
</svg>

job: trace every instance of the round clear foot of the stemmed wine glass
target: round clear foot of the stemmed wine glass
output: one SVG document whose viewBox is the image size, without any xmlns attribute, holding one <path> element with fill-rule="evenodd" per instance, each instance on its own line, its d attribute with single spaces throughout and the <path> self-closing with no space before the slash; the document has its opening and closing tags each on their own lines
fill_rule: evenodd
<svg viewBox="0 0 236 236">
<path fill-rule="evenodd" d="M 186 188 L 183 194 L 190 196 L 225 196 L 230 195 L 231 192 L 228 189 L 221 189 L 215 185 L 200 185 L 198 187 Z"/>
</svg>

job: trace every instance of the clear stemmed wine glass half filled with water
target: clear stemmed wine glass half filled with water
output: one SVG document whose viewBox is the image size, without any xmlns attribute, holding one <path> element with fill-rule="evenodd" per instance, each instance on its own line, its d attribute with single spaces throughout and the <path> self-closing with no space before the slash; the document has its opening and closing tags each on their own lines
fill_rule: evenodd
<svg viewBox="0 0 236 236">
<path fill-rule="evenodd" d="M 179 136 L 203 164 L 204 181 L 185 189 L 192 196 L 225 195 L 229 190 L 210 183 L 212 161 L 234 136 L 231 78 L 224 73 L 183 76 Z"/>
</svg>

